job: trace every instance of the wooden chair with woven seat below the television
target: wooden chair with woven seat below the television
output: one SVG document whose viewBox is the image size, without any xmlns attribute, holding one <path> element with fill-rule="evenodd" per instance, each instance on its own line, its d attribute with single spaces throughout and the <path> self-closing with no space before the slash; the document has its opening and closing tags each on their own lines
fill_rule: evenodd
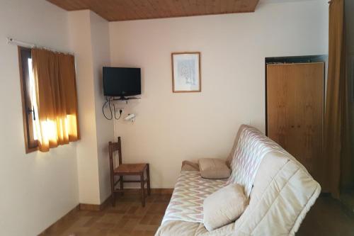
<svg viewBox="0 0 354 236">
<path fill-rule="evenodd" d="M 142 193 L 142 206 L 145 206 L 145 190 L 147 184 L 147 194 L 150 195 L 150 169 L 148 163 L 139 164 L 122 164 L 122 145 L 120 137 L 118 142 L 108 143 L 110 155 L 110 189 L 112 191 L 112 206 L 115 206 L 115 193 L 124 193 L 124 183 L 140 183 Z M 115 167 L 113 162 L 113 153 L 118 151 L 119 166 Z M 144 172 L 147 172 L 147 177 L 144 179 Z M 123 176 L 140 176 L 139 180 L 124 180 Z M 115 176 L 119 176 L 118 181 L 115 181 Z M 115 186 L 120 183 L 120 189 L 115 189 Z"/>
</svg>

